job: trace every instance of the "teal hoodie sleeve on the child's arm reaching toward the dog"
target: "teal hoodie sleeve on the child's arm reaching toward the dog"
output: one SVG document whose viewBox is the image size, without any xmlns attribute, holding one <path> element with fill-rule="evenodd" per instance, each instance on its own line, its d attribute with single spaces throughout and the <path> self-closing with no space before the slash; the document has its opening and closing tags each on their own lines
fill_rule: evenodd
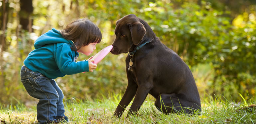
<svg viewBox="0 0 256 124">
<path fill-rule="evenodd" d="M 55 61 L 64 74 L 76 74 L 84 71 L 89 71 L 88 61 L 74 62 L 72 60 L 72 51 L 70 46 L 63 44 L 54 52 Z"/>
</svg>

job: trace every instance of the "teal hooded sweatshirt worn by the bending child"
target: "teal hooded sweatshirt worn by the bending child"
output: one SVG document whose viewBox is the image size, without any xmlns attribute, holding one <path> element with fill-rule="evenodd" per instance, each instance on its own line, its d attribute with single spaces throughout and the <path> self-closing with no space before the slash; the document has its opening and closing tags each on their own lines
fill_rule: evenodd
<svg viewBox="0 0 256 124">
<path fill-rule="evenodd" d="M 35 50 L 31 51 L 24 64 L 34 72 L 40 72 L 50 79 L 89 71 L 88 61 L 75 62 L 79 56 L 70 47 L 71 40 L 65 39 L 60 31 L 53 28 L 38 37 Z"/>
</svg>

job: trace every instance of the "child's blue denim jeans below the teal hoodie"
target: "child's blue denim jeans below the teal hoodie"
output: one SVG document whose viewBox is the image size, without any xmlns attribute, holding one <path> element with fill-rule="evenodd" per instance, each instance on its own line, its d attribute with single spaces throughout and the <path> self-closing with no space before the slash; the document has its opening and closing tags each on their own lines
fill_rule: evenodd
<svg viewBox="0 0 256 124">
<path fill-rule="evenodd" d="M 39 99 L 37 104 L 39 124 L 68 121 L 64 115 L 64 95 L 55 80 L 22 66 L 21 82 L 30 96 Z"/>
</svg>

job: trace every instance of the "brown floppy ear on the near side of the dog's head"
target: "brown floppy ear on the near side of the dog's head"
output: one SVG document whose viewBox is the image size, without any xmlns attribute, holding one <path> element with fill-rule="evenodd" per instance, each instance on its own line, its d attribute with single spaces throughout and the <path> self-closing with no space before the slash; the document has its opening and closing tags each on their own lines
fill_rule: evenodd
<svg viewBox="0 0 256 124">
<path fill-rule="evenodd" d="M 144 37 L 146 34 L 146 29 L 143 26 L 142 23 L 140 22 L 135 22 L 133 24 L 127 23 L 127 27 L 131 31 L 131 36 L 132 36 L 132 42 L 134 45 L 138 45 L 141 41 L 141 39 Z"/>
</svg>

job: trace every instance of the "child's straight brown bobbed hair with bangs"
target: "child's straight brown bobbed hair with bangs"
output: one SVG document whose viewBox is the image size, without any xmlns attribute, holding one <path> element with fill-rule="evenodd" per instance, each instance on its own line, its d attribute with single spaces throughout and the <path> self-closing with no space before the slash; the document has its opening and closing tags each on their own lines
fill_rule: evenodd
<svg viewBox="0 0 256 124">
<path fill-rule="evenodd" d="M 99 27 L 89 19 L 71 21 L 60 32 L 65 39 L 74 42 L 75 46 L 70 47 L 73 51 L 90 43 L 99 43 L 102 38 Z"/>
</svg>

